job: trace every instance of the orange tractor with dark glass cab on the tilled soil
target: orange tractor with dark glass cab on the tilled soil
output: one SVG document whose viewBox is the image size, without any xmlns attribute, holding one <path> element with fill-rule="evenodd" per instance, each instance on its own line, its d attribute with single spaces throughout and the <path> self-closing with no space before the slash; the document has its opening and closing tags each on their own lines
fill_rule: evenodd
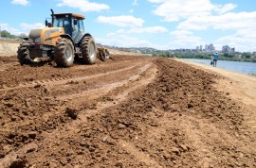
<svg viewBox="0 0 256 168">
<path fill-rule="evenodd" d="M 97 47 L 94 38 L 84 31 L 84 16 L 75 13 L 54 13 L 45 28 L 32 29 L 18 48 L 21 65 L 42 58 L 55 60 L 60 67 L 70 67 L 74 59 L 94 64 Z"/>
</svg>

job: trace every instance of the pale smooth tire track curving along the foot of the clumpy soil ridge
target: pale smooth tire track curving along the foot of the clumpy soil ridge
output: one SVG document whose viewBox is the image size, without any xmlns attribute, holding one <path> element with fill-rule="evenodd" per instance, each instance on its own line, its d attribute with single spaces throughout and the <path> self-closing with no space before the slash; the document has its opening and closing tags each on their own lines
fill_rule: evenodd
<svg viewBox="0 0 256 168">
<path fill-rule="evenodd" d="M 134 67 L 134 66 L 133 66 Z M 129 68 L 130 69 L 130 68 Z M 150 69 L 150 70 L 149 70 Z M 146 72 L 149 70 L 148 72 Z M 120 102 L 124 101 L 127 96 L 129 95 L 130 92 L 135 92 L 138 88 L 144 87 L 145 85 L 151 83 L 155 79 L 155 73 L 157 69 L 155 65 L 153 65 L 152 62 L 147 63 L 145 66 L 140 68 L 140 73 L 136 76 L 131 76 L 128 80 L 118 82 L 115 85 L 110 85 L 107 86 L 107 92 L 110 92 L 112 90 L 115 90 L 119 87 L 124 87 L 124 89 L 121 89 L 121 92 L 114 96 L 111 100 L 107 100 L 106 102 L 99 102 L 97 104 L 97 107 L 95 109 L 89 109 L 89 110 L 82 110 L 78 111 L 78 120 L 73 121 L 72 123 L 67 124 L 68 126 L 65 128 L 57 128 L 56 130 L 52 131 L 51 133 L 42 133 L 42 136 L 44 136 L 44 144 L 47 144 L 51 146 L 51 141 L 56 140 L 56 139 L 64 139 L 67 136 L 70 137 L 72 134 L 77 134 L 77 132 L 80 130 L 80 126 L 86 123 L 87 117 L 95 115 L 103 109 L 107 109 L 113 106 L 118 106 Z M 146 76 L 142 77 L 141 75 L 146 72 Z M 126 86 L 126 84 L 128 84 Z M 103 90 L 104 88 L 102 88 Z M 101 89 L 99 89 L 101 90 Z M 99 91 L 95 91 L 99 92 Z M 101 92 L 102 94 L 105 94 L 107 92 Z M 85 92 L 83 92 L 85 93 Z M 94 94 L 94 92 L 87 92 L 89 94 Z M 71 95 L 71 97 L 74 95 Z M 77 95 L 75 95 L 77 96 Z M 70 97 L 69 97 L 70 98 Z M 43 142 L 40 142 L 41 144 Z M 52 144 L 54 145 L 54 144 Z M 10 152 L 8 155 L 5 156 L 4 159 L 0 160 L 0 167 L 9 167 L 9 165 L 15 161 L 19 160 L 19 156 L 24 156 L 25 153 L 27 153 L 27 150 L 30 150 L 31 147 L 38 148 L 38 144 L 36 143 L 27 143 L 24 146 L 22 146 L 20 149 L 18 149 L 15 152 Z M 130 145 L 131 147 L 131 145 Z M 136 151 L 131 151 L 132 155 L 135 155 L 134 152 Z M 142 160 L 143 161 L 143 160 Z M 145 160 L 144 160 L 145 161 Z M 151 161 L 156 164 L 155 161 Z M 156 164 L 157 165 L 157 164 Z"/>
</svg>

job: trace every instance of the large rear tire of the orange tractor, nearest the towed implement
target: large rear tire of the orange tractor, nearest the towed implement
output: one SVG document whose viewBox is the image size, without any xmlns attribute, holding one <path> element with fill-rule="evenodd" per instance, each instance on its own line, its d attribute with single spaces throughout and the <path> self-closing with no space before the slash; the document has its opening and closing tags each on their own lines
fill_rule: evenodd
<svg viewBox="0 0 256 168">
<path fill-rule="evenodd" d="M 97 48 L 91 36 L 85 36 L 81 43 L 82 63 L 94 64 L 97 58 Z"/>
</svg>

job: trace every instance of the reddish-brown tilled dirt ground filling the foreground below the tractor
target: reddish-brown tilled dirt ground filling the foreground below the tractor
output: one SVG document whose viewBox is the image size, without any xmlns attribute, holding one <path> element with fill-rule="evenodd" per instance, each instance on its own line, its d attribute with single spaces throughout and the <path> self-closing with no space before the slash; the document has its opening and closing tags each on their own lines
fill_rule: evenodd
<svg viewBox="0 0 256 168">
<path fill-rule="evenodd" d="M 256 95 L 201 69 L 138 56 L 65 69 L 2 57 L 0 167 L 256 167 Z"/>
</svg>

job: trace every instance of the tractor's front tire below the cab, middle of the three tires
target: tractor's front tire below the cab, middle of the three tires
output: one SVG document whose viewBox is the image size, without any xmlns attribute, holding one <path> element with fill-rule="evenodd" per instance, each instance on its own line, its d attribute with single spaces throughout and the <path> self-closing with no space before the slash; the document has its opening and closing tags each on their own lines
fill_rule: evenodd
<svg viewBox="0 0 256 168">
<path fill-rule="evenodd" d="M 54 60 L 60 67 L 70 67 L 74 62 L 74 45 L 68 39 L 60 39 L 54 47 Z"/>
</svg>

